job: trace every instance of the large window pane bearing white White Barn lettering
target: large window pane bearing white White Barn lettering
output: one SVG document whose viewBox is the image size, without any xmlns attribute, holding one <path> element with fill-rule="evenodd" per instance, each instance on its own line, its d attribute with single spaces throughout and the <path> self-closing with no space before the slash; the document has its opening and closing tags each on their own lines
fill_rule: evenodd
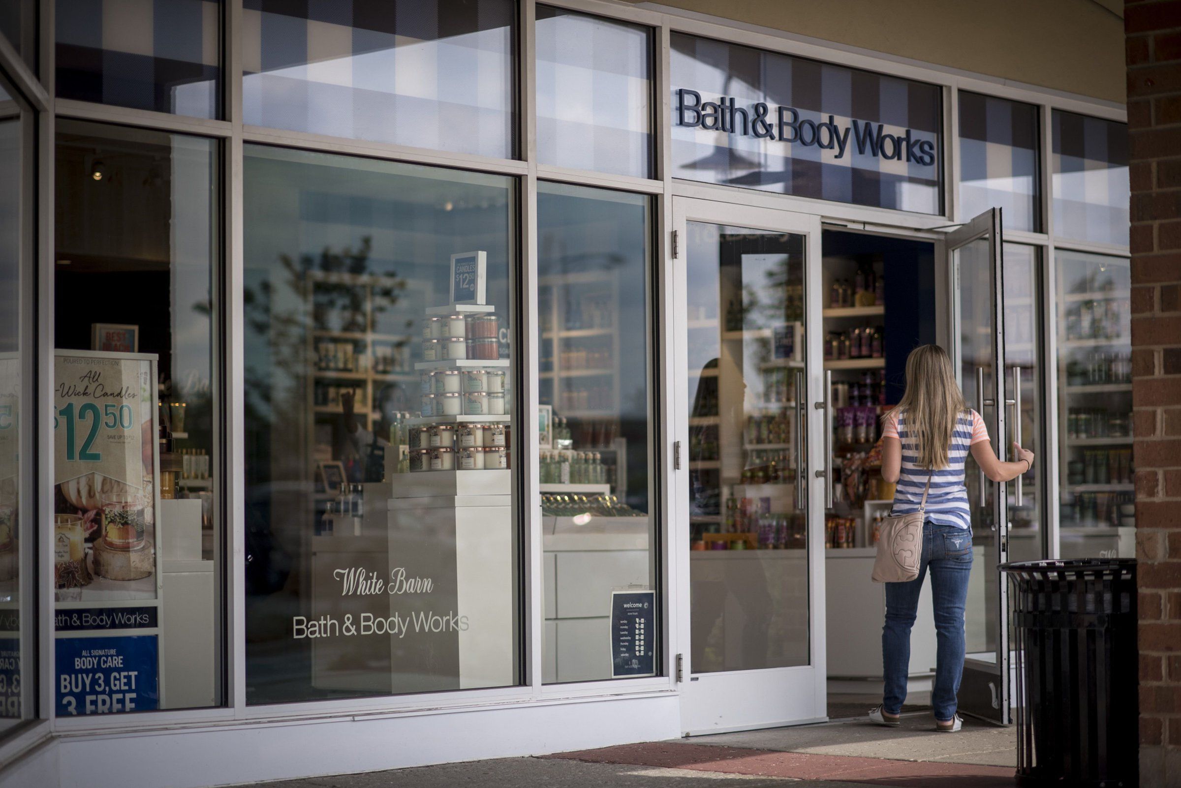
<svg viewBox="0 0 1181 788">
<path fill-rule="evenodd" d="M 247 146 L 248 703 L 520 681 L 515 199 Z"/>
</svg>

